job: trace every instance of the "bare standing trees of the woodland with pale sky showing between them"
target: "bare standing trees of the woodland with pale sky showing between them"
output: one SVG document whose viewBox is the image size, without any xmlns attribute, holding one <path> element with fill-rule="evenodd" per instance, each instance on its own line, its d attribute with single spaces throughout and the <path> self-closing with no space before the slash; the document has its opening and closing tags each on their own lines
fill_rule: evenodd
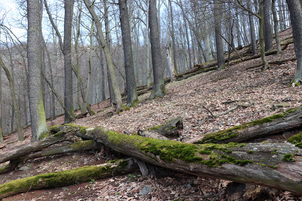
<svg viewBox="0 0 302 201">
<path fill-rule="evenodd" d="M 9 83 L 2 86 L 0 79 L 0 110 L 4 105 L 10 114 L 2 115 L 9 123 L 1 121 L 0 127 L 12 132 L 16 125 L 19 140 L 24 125 L 32 125 L 35 141 L 47 130 L 46 118 L 64 110 L 65 123 L 71 122 L 75 108 L 94 115 L 90 104 L 107 97 L 117 113 L 121 91 L 132 107 L 137 86 L 150 88 L 152 81 L 150 98 L 163 96 L 164 77 L 173 81 L 177 73 L 213 59 L 222 69 L 225 53 L 242 46 L 251 44 L 258 54 L 259 42 L 267 69 L 272 33 L 279 54 L 278 31 L 291 23 L 298 63 L 292 83 L 302 80 L 300 0 L 27 0 L 19 2 L 19 11 L 27 20 L 18 21 L 27 41 L 11 31 L 7 13 L 0 19 L 0 65 Z"/>
</svg>

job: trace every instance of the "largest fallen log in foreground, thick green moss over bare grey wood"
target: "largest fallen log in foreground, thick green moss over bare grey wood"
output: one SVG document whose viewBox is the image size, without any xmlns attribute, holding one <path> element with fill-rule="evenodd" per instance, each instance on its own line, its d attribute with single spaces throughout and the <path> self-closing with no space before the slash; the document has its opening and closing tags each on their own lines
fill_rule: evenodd
<svg viewBox="0 0 302 201">
<path fill-rule="evenodd" d="M 292 144 L 196 145 L 128 136 L 102 127 L 93 134 L 114 151 L 164 168 L 302 194 L 302 149 Z"/>
</svg>

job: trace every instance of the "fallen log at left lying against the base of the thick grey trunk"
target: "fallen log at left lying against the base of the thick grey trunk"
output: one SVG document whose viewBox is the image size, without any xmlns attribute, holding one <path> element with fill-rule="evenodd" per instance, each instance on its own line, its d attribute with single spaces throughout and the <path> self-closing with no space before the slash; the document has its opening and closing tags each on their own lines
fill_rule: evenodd
<svg viewBox="0 0 302 201">
<path fill-rule="evenodd" d="M 76 133 L 86 132 L 85 128 L 76 125 L 52 127 L 52 131 L 57 133 L 48 134 L 49 136 L 40 139 L 34 143 L 23 145 L 17 149 L 14 149 L 11 152 L 0 155 L 0 164 L 7 161 L 18 159 L 22 156 L 26 156 L 32 152 L 44 149 L 46 147 L 49 147 L 57 143 L 61 143 L 64 141 L 69 141 L 69 142 L 80 141 L 81 139 L 76 137 Z"/>
</svg>

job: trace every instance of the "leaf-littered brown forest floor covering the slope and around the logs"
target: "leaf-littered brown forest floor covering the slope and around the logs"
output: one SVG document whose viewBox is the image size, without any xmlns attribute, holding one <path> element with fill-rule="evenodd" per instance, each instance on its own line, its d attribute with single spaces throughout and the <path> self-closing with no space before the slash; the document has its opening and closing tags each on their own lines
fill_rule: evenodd
<svg viewBox="0 0 302 201">
<path fill-rule="evenodd" d="M 280 33 L 284 40 L 291 36 L 291 29 Z M 290 40 L 290 39 L 288 39 Z M 283 41 L 282 43 L 284 43 Z M 282 54 L 267 56 L 268 61 L 276 61 L 295 57 L 293 44 L 290 44 Z M 210 71 L 188 79 L 175 81 L 166 85 L 167 94 L 161 98 L 149 100 L 150 93 L 139 97 L 136 108 L 131 108 L 119 115 L 108 117 L 110 108 L 108 100 L 99 106 L 92 106 L 94 111 L 102 111 L 94 116 L 78 119 L 73 122 L 80 126 L 102 126 L 121 133 L 135 133 L 138 129 L 163 124 L 186 111 L 184 130 L 180 141 L 240 125 L 263 117 L 280 113 L 283 110 L 300 106 L 302 103 L 302 86 L 288 87 L 296 72 L 296 61 L 284 64 L 272 64 L 266 71 L 262 67 L 246 70 L 246 68 L 261 63 L 261 58 L 240 62 L 220 71 Z M 237 100 L 237 103 L 255 103 L 248 108 L 238 108 L 217 118 L 207 118 L 199 127 L 201 121 L 209 113 L 202 107 L 206 106 L 213 114 L 218 114 L 234 107 L 237 103 L 225 103 Z M 274 104 L 286 103 L 282 109 L 275 109 Z M 102 110 L 106 108 L 105 110 Z M 64 122 L 64 117 L 57 117 L 54 125 Z M 48 122 L 50 125 L 50 122 Z M 26 140 L 15 142 L 17 135 L 5 139 L 6 146 L 0 149 L 0 154 L 30 141 L 30 128 L 24 130 Z M 289 135 L 289 134 L 288 134 Z M 287 136 L 277 136 L 261 141 L 286 141 Z M 9 144 L 10 142 L 13 142 Z M 98 159 L 100 158 L 100 160 Z M 83 151 L 26 161 L 19 166 L 21 169 L 1 175 L 0 184 L 30 175 L 72 169 L 85 165 L 103 163 L 114 159 L 110 150 Z M 154 178 L 142 178 L 140 172 L 115 176 L 91 182 L 65 187 L 42 189 L 17 194 L 4 200 L 229 200 L 225 187 L 230 181 L 196 177 L 169 170 L 158 169 Z M 145 185 L 150 185 L 152 192 L 139 196 Z M 240 200 L 240 199 L 238 199 Z M 278 191 L 273 197 L 262 196 L 257 200 L 302 200 L 290 192 Z"/>
</svg>

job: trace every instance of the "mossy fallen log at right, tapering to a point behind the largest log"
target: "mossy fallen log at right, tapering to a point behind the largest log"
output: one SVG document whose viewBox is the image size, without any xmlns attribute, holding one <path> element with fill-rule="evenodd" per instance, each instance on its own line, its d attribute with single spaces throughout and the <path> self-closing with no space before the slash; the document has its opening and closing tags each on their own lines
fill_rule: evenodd
<svg viewBox="0 0 302 201">
<path fill-rule="evenodd" d="M 281 114 L 242 124 L 241 126 L 234 126 L 226 130 L 207 133 L 191 139 L 187 141 L 187 143 L 245 142 L 301 127 L 302 107 L 297 107 Z"/>
</svg>

